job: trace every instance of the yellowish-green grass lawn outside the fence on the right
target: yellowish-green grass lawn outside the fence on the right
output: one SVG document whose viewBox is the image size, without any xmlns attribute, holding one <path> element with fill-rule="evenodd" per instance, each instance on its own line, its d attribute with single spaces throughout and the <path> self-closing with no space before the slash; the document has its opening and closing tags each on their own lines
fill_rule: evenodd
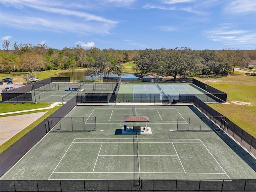
<svg viewBox="0 0 256 192">
<path fill-rule="evenodd" d="M 256 77 L 236 72 L 221 78 L 197 79 L 227 93 L 226 104 L 209 106 L 256 137 Z"/>
</svg>

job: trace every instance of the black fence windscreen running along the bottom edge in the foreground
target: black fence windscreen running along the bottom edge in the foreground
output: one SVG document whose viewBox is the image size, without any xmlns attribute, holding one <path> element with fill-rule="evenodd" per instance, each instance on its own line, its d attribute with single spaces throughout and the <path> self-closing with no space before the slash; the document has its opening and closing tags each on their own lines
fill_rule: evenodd
<svg viewBox="0 0 256 192">
<path fill-rule="evenodd" d="M 0 180 L 0 191 L 252 192 L 256 180 Z"/>
</svg>

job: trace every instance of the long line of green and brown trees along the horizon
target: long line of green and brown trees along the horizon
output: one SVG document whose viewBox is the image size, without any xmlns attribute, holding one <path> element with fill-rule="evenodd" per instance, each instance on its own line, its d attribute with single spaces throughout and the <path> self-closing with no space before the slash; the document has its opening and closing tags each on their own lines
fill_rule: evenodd
<svg viewBox="0 0 256 192">
<path fill-rule="evenodd" d="M 57 50 L 46 44 L 17 44 L 12 48 L 5 40 L 0 50 L 0 72 L 34 72 L 58 69 L 87 68 L 86 75 L 122 74 L 123 64 L 134 62 L 134 72 L 151 72 L 162 76 L 187 74 L 221 74 L 244 68 L 256 60 L 256 50 L 191 50 L 173 49 L 114 50 L 81 46 Z"/>
</svg>

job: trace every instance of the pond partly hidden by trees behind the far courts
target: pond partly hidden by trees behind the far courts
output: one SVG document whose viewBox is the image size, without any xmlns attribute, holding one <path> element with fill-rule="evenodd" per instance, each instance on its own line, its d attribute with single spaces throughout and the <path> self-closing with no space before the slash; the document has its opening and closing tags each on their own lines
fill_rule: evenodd
<svg viewBox="0 0 256 192">
<path fill-rule="evenodd" d="M 74 81 L 80 81 L 80 80 L 92 80 L 92 76 L 85 76 L 84 71 L 71 71 L 71 72 L 65 72 L 60 74 L 60 77 L 70 77 L 70 81 L 74 79 Z M 122 76 L 117 76 L 116 74 L 109 74 L 108 77 L 115 78 L 115 77 L 122 77 L 122 78 L 129 78 L 129 80 L 138 80 L 138 77 L 136 77 L 134 74 L 130 73 L 124 73 Z M 94 79 L 101 79 L 102 76 L 93 76 Z"/>
</svg>

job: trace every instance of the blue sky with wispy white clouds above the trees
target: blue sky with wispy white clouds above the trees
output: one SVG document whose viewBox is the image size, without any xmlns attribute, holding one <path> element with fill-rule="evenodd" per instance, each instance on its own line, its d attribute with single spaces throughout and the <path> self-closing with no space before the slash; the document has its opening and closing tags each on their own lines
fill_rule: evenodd
<svg viewBox="0 0 256 192">
<path fill-rule="evenodd" d="M 256 0 L 0 0 L 1 49 L 256 49 Z"/>
</svg>

